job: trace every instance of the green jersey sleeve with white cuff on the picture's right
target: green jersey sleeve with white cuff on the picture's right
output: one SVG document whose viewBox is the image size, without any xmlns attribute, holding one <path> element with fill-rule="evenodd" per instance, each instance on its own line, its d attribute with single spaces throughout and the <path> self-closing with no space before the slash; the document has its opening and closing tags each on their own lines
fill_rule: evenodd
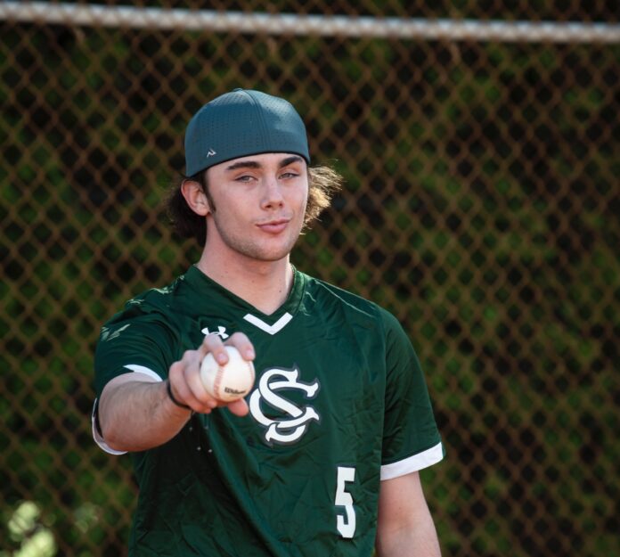
<svg viewBox="0 0 620 557">
<path fill-rule="evenodd" d="M 420 361 L 403 327 L 383 311 L 387 385 L 381 479 L 419 471 L 444 457 Z"/>
</svg>

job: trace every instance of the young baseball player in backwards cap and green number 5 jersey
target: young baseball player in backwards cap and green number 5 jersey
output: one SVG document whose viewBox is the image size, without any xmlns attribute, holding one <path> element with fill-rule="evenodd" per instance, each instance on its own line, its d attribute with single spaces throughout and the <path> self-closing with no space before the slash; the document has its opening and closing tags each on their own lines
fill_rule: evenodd
<svg viewBox="0 0 620 557">
<path fill-rule="evenodd" d="M 196 113 L 185 157 L 170 208 L 200 260 L 130 300 L 95 356 L 94 437 L 140 486 L 129 554 L 439 555 L 418 471 L 443 448 L 410 341 L 290 265 L 339 183 L 308 167 L 297 111 L 236 89 Z M 199 372 L 226 344 L 257 371 L 228 405 Z"/>
</svg>

